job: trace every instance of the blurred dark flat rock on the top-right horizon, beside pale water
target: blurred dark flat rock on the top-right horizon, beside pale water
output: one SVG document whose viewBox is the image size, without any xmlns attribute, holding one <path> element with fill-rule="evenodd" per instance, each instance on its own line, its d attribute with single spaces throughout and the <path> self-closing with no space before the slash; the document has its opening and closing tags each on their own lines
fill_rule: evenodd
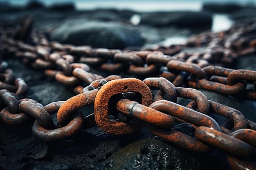
<svg viewBox="0 0 256 170">
<path fill-rule="evenodd" d="M 242 7 L 236 3 L 205 3 L 203 10 L 215 13 L 231 13 Z"/>
</svg>

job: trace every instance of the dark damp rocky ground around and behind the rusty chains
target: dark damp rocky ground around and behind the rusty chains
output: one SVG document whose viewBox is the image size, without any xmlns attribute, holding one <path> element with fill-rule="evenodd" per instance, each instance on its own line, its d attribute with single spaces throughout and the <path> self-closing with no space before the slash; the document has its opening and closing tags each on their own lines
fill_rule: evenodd
<svg viewBox="0 0 256 170">
<path fill-rule="evenodd" d="M 7 4 L 5 4 L 7 5 Z M 92 45 L 97 47 L 116 47 L 122 49 L 126 46 L 142 46 L 144 44 L 154 44 L 161 42 L 166 37 L 181 36 L 189 37 L 192 34 L 208 31 L 211 28 L 211 20 L 214 12 L 223 12 L 225 7 L 209 6 L 207 11 L 202 11 L 203 23 L 191 24 L 189 21 L 173 24 L 158 22 L 166 14 L 154 15 L 158 19 L 150 17 L 151 14 L 143 14 L 141 24 L 134 26 L 130 24 L 130 17 L 136 14 L 134 11 L 94 10 L 75 11 L 72 4 L 52 7 L 46 9 L 40 4 L 31 3 L 26 9 L 16 9 L 1 6 L 0 24 L 8 27 L 17 24 L 24 15 L 33 17 L 33 29 L 48 34 L 48 38 L 67 43 L 83 44 L 83 39 L 77 40 L 81 33 L 73 33 L 72 28 L 68 28 L 68 23 L 79 26 L 81 21 L 86 29 L 86 36 L 92 36 Z M 218 10 L 217 10 L 218 9 Z M 234 10 L 242 10 L 240 7 L 227 6 L 224 11 L 226 15 L 231 15 Z M 187 16 L 187 12 L 177 15 Z M 197 15 L 197 14 L 193 14 Z M 248 15 L 252 15 L 249 13 Z M 234 19 L 237 15 L 231 15 Z M 192 15 L 190 15 L 192 17 Z M 241 16 L 240 16 L 241 17 Z M 245 16 L 247 17 L 247 16 Z M 169 17 L 171 18 L 171 16 Z M 185 17 L 186 18 L 186 17 Z M 211 18 L 211 17 L 210 17 Z M 175 22 L 175 18 L 169 22 Z M 184 20 L 182 20 L 184 21 Z M 120 44 L 106 43 L 102 39 L 97 39 L 97 33 L 92 34 L 92 27 L 101 23 L 101 29 L 112 29 L 109 24 L 120 27 L 118 31 L 124 31 L 125 40 Z M 59 26 L 59 27 L 57 27 Z M 61 28 L 61 26 L 63 28 Z M 83 28 L 84 28 L 83 27 Z M 124 29 L 123 27 L 127 27 Z M 113 27 L 114 28 L 114 27 Z M 62 39 L 63 31 L 70 31 L 70 35 L 76 39 Z M 132 33 L 133 36 L 130 34 Z M 108 38 L 108 37 L 106 37 Z M 111 39 L 107 39 L 111 41 Z M 111 46 L 110 46 L 111 45 Z M 17 77 L 22 77 L 27 82 L 29 88 L 27 98 L 34 99 L 43 105 L 50 102 L 67 100 L 74 96 L 74 93 L 63 84 L 44 75 L 43 70 L 35 70 L 23 64 L 13 57 L 1 58 L 9 63 Z M 255 69 L 255 55 L 239 58 L 234 68 Z M 100 72 L 99 72 L 100 73 Z M 104 74 L 104 73 L 102 73 Z M 203 91 L 208 99 L 234 107 L 244 113 L 245 117 L 256 121 L 256 103 L 234 99 L 229 96 L 220 95 L 214 92 Z M 181 104 L 187 101 L 180 100 Z M 93 108 L 88 106 L 83 109 L 83 113 L 88 115 L 93 113 Z M 101 131 L 97 126 L 83 130 L 70 139 L 44 143 L 35 139 L 31 135 L 33 122 L 20 126 L 9 126 L 0 123 L 0 169 L 3 170 L 231 170 L 225 152 L 218 148 L 213 148 L 207 153 L 195 153 L 184 150 L 174 144 L 168 143 L 155 137 L 145 127 L 129 135 L 112 136 Z M 188 135 L 194 134 L 194 129 L 186 124 L 175 126 Z"/>
</svg>

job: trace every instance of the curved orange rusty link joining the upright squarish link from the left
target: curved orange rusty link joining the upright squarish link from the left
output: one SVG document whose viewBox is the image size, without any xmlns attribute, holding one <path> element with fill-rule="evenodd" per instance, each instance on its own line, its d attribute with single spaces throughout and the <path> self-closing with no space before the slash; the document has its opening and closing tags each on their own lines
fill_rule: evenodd
<svg viewBox="0 0 256 170">
<path fill-rule="evenodd" d="M 58 126 L 65 126 L 75 110 L 94 104 L 94 99 L 97 93 L 98 89 L 94 89 L 91 91 L 85 91 L 79 95 L 67 99 L 67 101 L 58 110 Z"/>
</svg>

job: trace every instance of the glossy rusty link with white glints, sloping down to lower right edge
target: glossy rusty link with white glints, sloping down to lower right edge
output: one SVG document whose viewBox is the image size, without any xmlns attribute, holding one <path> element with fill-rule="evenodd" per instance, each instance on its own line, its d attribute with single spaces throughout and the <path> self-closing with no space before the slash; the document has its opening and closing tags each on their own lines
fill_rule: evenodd
<svg viewBox="0 0 256 170">
<path fill-rule="evenodd" d="M 254 147 L 240 139 L 226 135 L 218 130 L 206 126 L 200 126 L 195 130 L 195 136 L 213 146 L 221 148 L 234 155 L 253 157 Z"/>
</svg>

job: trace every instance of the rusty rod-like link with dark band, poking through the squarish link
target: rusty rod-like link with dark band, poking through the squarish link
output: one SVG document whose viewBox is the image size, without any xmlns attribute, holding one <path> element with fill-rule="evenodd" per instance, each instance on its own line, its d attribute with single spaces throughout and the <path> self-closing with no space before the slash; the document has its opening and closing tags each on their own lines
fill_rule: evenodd
<svg viewBox="0 0 256 170">
<path fill-rule="evenodd" d="M 121 99 L 117 102 L 117 110 L 128 116 L 135 117 L 147 123 L 161 128 L 172 128 L 173 118 L 153 108 L 144 106 L 129 99 Z"/>
</svg>

